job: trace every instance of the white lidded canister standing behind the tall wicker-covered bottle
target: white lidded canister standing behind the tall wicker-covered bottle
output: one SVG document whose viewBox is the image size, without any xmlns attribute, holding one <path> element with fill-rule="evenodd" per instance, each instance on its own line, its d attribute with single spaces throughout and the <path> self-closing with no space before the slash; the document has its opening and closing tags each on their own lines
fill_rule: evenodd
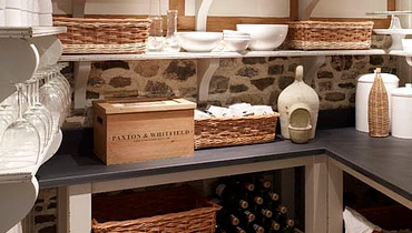
<svg viewBox="0 0 412 233">
<path fill-rule="evenodd" d="M 383 83 L 388 92 L 389 109 L 391 111 L 391 91 L 399 87 L 399 78 L 391 73 L 381 73 Z M 371 91 L 373 81 L 375 80 L 374 73 L 363 74 L 357 79 L 356 85 L 356 100 L 355 100 L 355 128 L 361 132 L 369 132 L 367 124 L 367 100 Z M 389 113 L 391 118 L 391 112 Z M 390 119 L 391 125 L 391 119 Z"/>
</svg>

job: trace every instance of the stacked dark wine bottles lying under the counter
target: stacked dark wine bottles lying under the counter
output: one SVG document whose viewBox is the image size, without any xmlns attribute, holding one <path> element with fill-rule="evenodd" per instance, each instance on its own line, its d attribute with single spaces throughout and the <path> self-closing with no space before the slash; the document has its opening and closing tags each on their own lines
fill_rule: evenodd
<svg viewBox="0 0 412 233">
<path fill-rule="evenodd" d="M 292 233 L 295 220 L 283 205 L 267 173 L 224 176 L 210 185 L 210 200 L 222 205 L 216 233 Z"/>
</svg>

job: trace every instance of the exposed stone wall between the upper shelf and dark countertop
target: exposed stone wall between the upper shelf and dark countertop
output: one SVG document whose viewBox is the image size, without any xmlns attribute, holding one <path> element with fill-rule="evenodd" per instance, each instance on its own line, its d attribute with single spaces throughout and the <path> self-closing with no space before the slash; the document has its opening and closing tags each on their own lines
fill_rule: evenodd
<svg viewBox="0 0 412 233">
<path fill-rule="evenodd" d="M 236 102 L 267 104 L 277 109 L 277 97 L 294 81 L 300 58 L 220 59 L 212 78 L 208 104 L 226 107 Z M 356 78 L 376 67 L 396 73 L 396 58 L 390 55 L 326 57 L 312 82 L 321 100 L 321 110 L 353 108 Z M 101 61 L 92 63 L 87 100 L 128 97 L 179 97 L 196 102 L 197 60 Z M 306 69 L 306 68 L 305 68 Z M 69 72 L 71 72 L 69 70 Z M 67 77 L 72 77 L 67 74 Z M 72 114 L 65 128 L 91 126 L 90 108 Z"/>
</svg>

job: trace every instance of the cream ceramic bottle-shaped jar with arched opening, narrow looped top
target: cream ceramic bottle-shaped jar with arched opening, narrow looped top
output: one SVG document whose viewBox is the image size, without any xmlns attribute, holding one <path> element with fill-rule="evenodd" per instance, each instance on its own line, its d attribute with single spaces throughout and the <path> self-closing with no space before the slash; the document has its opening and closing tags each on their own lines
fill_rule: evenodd
<svg viewBox="0 0 412 233">
<path fill-rule="evenodd" d="M 303 67 L 298 65 L 295 81 L 281 92 L 277 100 L 282 136 L 296 143 L 315 138 L 318 108 L 317 93 L 303 81 Z"/>
</svg>

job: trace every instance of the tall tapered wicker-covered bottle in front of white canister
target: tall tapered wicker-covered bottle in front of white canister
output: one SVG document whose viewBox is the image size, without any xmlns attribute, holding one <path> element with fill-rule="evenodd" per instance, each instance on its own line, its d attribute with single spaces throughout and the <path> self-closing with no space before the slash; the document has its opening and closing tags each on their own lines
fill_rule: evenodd
<svg viewBox="0 0 412 233">
<path fill-rule="evenodd" d="M 371 136 L 389 135 L 389 101 L 383 80 L 380 75 L 375 77 L 369 94 L 367 102 L 367 123 Z"/>
</svg>

